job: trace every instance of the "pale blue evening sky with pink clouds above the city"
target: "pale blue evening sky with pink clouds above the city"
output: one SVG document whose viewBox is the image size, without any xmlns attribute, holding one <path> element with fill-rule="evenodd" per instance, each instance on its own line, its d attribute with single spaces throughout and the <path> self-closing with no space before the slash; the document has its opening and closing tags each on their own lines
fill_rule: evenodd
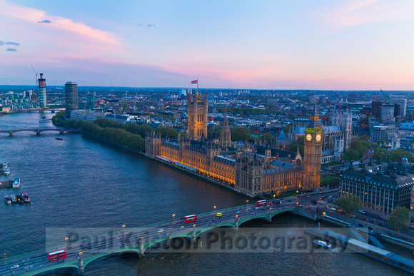
<svg viewBox="0 0 414 276">
<path fill-rule="evenodd" d="M 0 85 L 414 90 L 412 0 L 0 0 Z"/>
</svg>

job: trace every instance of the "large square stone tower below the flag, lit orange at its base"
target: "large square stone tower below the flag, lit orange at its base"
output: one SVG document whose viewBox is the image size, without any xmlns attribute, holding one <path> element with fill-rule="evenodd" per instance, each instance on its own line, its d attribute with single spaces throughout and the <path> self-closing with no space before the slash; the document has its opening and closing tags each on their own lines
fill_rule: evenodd
<svg viewBox="0 0 414 276">
<path fill-rule="evenodd" d="M 207 137 L 208 100 L 207 94 L 204 101 L 201 94 L 188 96 L 188 136 L 191 140 L 201 140 L 201 136 Z"/>
</svg>

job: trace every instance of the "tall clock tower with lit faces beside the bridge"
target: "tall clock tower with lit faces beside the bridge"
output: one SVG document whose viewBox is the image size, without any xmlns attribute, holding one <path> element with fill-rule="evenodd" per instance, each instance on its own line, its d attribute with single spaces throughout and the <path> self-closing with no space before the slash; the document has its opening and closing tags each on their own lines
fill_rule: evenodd
<svg viewBox="0 0 414 276">
<path fill-rule="evenodd" d="M 305 156 L 303 158 L 303 189 L 320 187 L 320 161 L 322 159 L 322 123 L 315 110 L 305 131 Z"/>
</svg>

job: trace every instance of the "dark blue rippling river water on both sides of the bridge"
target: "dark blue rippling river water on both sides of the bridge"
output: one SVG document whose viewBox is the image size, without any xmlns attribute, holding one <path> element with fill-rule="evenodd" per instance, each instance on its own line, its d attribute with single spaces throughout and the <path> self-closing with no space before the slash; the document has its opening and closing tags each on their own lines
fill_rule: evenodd
<svg viewBox="0 0 414 276">
<path fill-rule="evenodd" d="M 54 127 L 41 116 L 0 116 L 0 130 Z M 19 193 L 30 205 L 0 204 L 0 254 L 19 255 L 45 247 L 46 228 L 127 228 L 246 203 L 246 197 L 81 134 L 16 133 L 0 136 L 0 161 L 21 179 Z M 0 190 L 1 196 L 16 193 Z M 315 222 L 278 215 L 242 227 L 303 228 Z M 66 270 L 66 272 L 68 272 Z M 395 275 L 368 257 L 350 253 L 161 253 L 138 259 L 124 254 L 91 262 L 86 275 Z M 58 272 L 56 272 L 58 273 Z M 59 275 L 63 271 L 59 271 Z"/>
</svg>

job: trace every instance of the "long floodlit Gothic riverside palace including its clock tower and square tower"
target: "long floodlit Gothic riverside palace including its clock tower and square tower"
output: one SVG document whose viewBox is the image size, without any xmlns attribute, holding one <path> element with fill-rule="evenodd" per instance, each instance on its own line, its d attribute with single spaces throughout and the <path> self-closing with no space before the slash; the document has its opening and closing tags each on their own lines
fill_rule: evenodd
<svg viewBox="0 0 414 276">
<path fill-rule="evenodd" d="M 249 196 L 286 190 L 315 190 L 320 186 L 322 124 L 316 111 L 305 133 L 305 156 L 272 148 L 270 144 L 244 142 L 235 148 L 227 115 L 220 133 L 207 139 L 207 95 L 188 96 L 188 133 L 177 139 L 146 133 L 146 156 L 175 164 L 231 185 Z"/>
</svg>

